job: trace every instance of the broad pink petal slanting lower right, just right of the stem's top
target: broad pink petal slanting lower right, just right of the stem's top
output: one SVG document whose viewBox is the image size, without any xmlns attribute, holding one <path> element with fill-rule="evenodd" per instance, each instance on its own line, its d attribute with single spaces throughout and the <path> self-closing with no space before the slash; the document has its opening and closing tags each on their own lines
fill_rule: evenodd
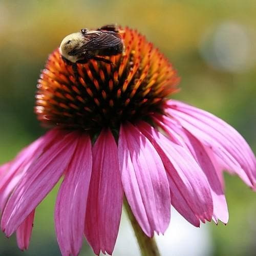
<svg viewBox="0 0 256 256">
<path fill-rule="evenodd" d="M 152 142 L 160 155 L 170 186 L 172 205 L 191 224 L 210 221 L 213 213 L 208 181 L 195 159 L 145 122 L 140 131 Z"/>
</svg>

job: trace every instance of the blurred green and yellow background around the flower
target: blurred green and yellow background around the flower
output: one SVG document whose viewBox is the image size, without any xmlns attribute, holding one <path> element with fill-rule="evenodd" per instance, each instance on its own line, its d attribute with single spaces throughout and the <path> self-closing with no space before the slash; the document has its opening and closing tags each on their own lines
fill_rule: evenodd
<svg viewBox="0 0 256 256">
<path fill-rule="evenodd" d="M 0 0 L 0 163 L 44 134 L 34 93 L 48 54 L 81 28 L 109 23 L 137 28 L 181 76 L 174 97 L 216 114 L 256 150 L 256 2 L 252 0 Z M 162 239 L 164 255 L 255 255 L 256 194 L 225 176 L 230 220 L 190 227 L 175 212 Z M 60 255 L 54 232 L 57 187 L 42 202 L 30 248 L 0 234 L 0 255 Z M 167 249 L 166 249 L 167 248 Z M 135 251 L 133 251 L 135 250 Z M 125 216 L 114 255 L 136 255 Z M 92 255 L 84 242 L 81 255 Z"/>
</svg>

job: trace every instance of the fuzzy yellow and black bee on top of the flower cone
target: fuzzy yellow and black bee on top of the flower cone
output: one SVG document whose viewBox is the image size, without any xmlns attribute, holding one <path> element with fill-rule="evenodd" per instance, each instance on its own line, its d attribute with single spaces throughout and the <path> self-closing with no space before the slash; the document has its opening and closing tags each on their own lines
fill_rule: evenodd
<svg viewBox="0 0 256 256">
<path fill-rule="evenodd" d="M 115 25 L 105 25 L 97 30 L 81 29 L 67 35 L 60 43 L 59 52 L 77 75 L 77 63 L 87 63 L 90 59 L 112 63 L 104 56 L 120 54 L 124 44 L 119 29 Z"/>
</svg>

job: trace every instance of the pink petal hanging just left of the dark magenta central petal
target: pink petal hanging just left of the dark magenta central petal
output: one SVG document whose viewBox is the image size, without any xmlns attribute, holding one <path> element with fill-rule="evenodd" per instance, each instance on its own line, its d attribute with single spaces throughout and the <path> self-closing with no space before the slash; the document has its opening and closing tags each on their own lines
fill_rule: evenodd
<svg viewBox="0 0 256 256">
<path fill-rule="evenodd" d="M 55 205 L 55 229 L 62 255 L 78 255 L 81 249 L 91 173 L 91 139 L 81 134 Z"/>
</svg>

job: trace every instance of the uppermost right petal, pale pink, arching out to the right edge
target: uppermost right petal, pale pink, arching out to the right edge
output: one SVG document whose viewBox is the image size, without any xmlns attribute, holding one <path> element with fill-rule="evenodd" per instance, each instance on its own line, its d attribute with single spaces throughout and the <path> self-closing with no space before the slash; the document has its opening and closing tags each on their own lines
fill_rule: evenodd
<svg viewBox="0 0 256 256">
<path fill-rule="evenodd" d="M 193 106 L 170 100 L 166 113 L 198 138 L 249 186 L 256 183 L 256 160 L 243 137 L 218 117 Z"/>
</svg>

